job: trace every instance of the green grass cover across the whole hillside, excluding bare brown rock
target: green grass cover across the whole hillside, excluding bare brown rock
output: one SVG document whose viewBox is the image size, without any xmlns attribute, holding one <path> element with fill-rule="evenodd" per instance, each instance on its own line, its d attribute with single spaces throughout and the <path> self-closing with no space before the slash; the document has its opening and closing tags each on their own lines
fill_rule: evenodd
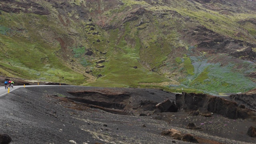
<svg viewBox="0 0 256 144">
<path fill-rule="evenodd" d="M 168 1 L 170 4 L 164 4 L 160 1 L 159 4 L 154 6 L 144 1 L 122 0 L 122 2 L 124 2 L 124 5 L 120 5 L 119 8 L 105 11 L 100 15 L 101 18 L 109 18 L 102 21 L 113 25 L 121 25 L 122 20 L 129 14 L 129 10 L 138 7 L 138 5 L 147 7 L 146 9 L 152 13 L 139 16 L 138 20 L 126 22 L 122 24 L 123 27 L 120 29 L 104 31 L 96 25 L 94 32 L 98 31 L 100 35 L 92 35 L 87 34 L 92 32 L 90 26 L 86 26 L 90 22 L 78 20 L 78 14 L 74 10 L 67 14 L 68 17 L 62 16 L 64 21 L 70 22 L 67 23 L 65 30 L 64 26 L 56 20 L 58 12 L 54 9 L 52 9 L 50 16 L 2 12 L 2 15 L 0 15 L 0 49 L 5 53 L 0 54 L 1 72 L 3 74 L 11 72 L 15 76 L 29 79 L 41 78 L 104 87 L 127 87 L 132 85 L 146 87 L 145 84 L 150 85 L 150 83 L 156 82 L 159 84 L 156 84 L 158 86 L 155 87 L 162 89 L 166 87 L 160 86 L 162 85 L 160 82 L 168 82 L 170 80 L 166 77 L 170 77 L 182 84 L 169 89 L 176 92 L 180 92 L 181 88 L 187 88 L 186 90 L 189 92 L 196 89 L 214 93 L 244 92 L 255 87 L 254 82 L 244 77 L 248 70 L 253 70 L 253 66 L 246 66 L 244 69 L 240 69 L 239 72 L 235 72 L 236 63 L 233 67 L 221 67 L 219 64 L 209 62 L 206 64 L 207 58 L 195 59 L 190 51 L 180 52 L 181 48 L 188 50 L 191 44 L 180 40 L 179 31 L 187 28 L 192 23 L 183 22 L 184 18 L 173 16 L 168 10 L 175 10 L 182 16 L 189 16 L 219 34 L 248 42 L 255 42 L 253 38 L 255 36 L 253 31 L 255 25 L 246 23 L 241 26 L 238 21 L 255 18 L 254 12 L 249 11 L 247 14 L 233 13 L 233 15 L 227 16 L 213 10 L 207 10 L 199 3 L 190 3 L 186 0 Z M 80 6 L 85 3 L 76 1 L 73 5 Z M 42 2 L 42 4 L 50 6 L 46 2 Z M 104 3 L 95 6 L 90 5 L 90 7 L 90 12 L 98 10 L 98 7 L 104 9 Z M 161 16 L 163 13 L 167 14 Z M 72 18 L 77 19 L 72 20 Z M 145 23 L 136 26 L 141 19 Z M 193 23 L 193 25 L 196 26 L 197 24 Z M 8 28 L 14 28 L 14 36 L 10 32 L 8 33 Z M 246 33 L 243 28 L 247 29 L 249 33 Z M 98 74 L 103 76 L 98 78 L 96 82 L 86 83 L 82 74 L 68 68 L 72 64 L 70 65 L 56 57 L 57 51 L 60 50 L 59 43 L 54 40 L 50 41 L 46 36 L 52 34 L 49 32 L 51 30 L 59 37 L 70 37 L 73 40 L 69 46 L 72 47 L 70 49 L 73 50 L 72 59 L 78 63 L 77 66 L 85 64 L 86 68 L 93 71 L 94 76 Z M 236 37 L 234 34 L 240 31 L 244 33 L 244 36 Z M 68 35 L 70 32 L 78 34 L 70 36 Z M 97 43 L 97 39 L 100 39 L 101 42 Z M 107 40 L 109 43 L 106 42 Z M 92 42 L 96 43 L 92 44 Z M 76 47 L 80 44 L 85 49 L 93 50 L 96 57 L 80 54 L 79 52 L 84 52 Z M 107 52 L 107 54 L 102 56 L 99 52 Z M 176 52 L 183 54 L 177 57 Z M 172 57 L 175 57 L 178 62 L 173 60 Z M 10 64 L 5 61 L 6 58 L 10 59 Z M 46 58 L 46 62 L 42 62 L 41 58 L 43 60 Z M 95 61 L 102 58 L 108 60 L 102 64 L 105 67 L 95 68 Z M 210 60 L 211 58 L 208 59 L 208 61 Z M 34 62 L 36 62 L 36 65 Z M 162 65 L 163 62 L 166 62 L 166 66 Z M 207 66 L 203 66 L 204 64 Z M 137 66 L 138 69 L 134 69 L 134 66 Z M 151 72 L 152 69 L 156 72 Z M 144 86 L 138 85 L 140 82 L 144 82 Z"/>
</svg>

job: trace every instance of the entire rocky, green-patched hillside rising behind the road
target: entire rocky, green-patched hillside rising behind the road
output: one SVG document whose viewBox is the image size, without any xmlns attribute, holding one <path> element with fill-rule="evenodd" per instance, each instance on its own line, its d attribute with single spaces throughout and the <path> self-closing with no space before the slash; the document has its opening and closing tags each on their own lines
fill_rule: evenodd
<svg viewBox="0 0 256 144">
<path fill-rule="evenodd" d="M 253 0 L 0 0 L 0 75 L 172 92 L 256 87 Z"/>
</svg>

